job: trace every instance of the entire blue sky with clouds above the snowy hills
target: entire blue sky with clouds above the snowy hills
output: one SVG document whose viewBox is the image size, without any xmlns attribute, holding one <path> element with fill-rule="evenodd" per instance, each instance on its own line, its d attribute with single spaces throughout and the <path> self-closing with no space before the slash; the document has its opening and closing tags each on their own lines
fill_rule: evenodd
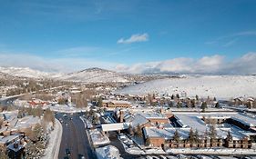
<svg viewBox="0 0 256 159">
<path fill-rule="evenodd" d="M 256 74 L 255 17 L 255 0 L 0 0 L 0 66 Z"/>
</svg>

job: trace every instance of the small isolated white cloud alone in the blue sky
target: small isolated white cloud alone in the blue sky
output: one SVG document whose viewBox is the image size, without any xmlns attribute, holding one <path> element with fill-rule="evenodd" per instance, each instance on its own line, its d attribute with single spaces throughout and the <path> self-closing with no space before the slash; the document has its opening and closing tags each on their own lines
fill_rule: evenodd
<svg viewBox="0 0 256 159">
<path fill-rule="evenodd" d="M 147 42 L 148 41 L 148 34 L 137 34 L 137 35 L 131 35 L 128 39 L 120 38 L 118 40 L 118 44 L 131 44 L 131 43 L 138 43 L 138 42 Z"/>
</svg>

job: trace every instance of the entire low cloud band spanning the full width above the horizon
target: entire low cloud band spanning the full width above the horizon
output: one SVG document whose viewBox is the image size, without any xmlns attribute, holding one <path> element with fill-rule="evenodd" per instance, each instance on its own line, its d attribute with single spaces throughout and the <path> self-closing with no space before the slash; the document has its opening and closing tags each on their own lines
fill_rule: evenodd
<svg viewBox="0 0 256 159">
<path fill-rule="evenodd" d="M 30 67 L 46 72 L 73 72 L 88 67 L 101 67 L 132 74 L 179 73 L 212 75 L 256 75 L 256 52 L 228 61 L 222 55 L 174 58 L 165 61 L 124 65 L 81 57 L 45 58 L 29 54 L 0 52 L 0 66 Z"/>
</svg>

